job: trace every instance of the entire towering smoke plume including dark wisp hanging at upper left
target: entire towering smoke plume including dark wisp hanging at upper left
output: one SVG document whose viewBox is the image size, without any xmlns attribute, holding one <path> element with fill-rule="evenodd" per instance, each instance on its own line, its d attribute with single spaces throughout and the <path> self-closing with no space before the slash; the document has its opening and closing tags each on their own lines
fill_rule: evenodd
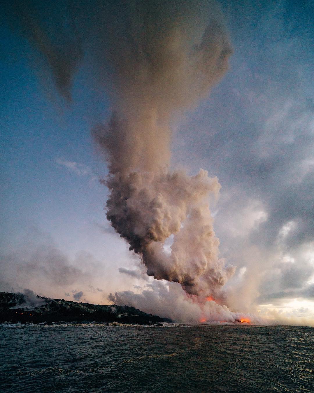
<svg viewBox="0 0 314 393">
<path fill-rule="evenodd" d="M 113 228 L 141 256 L 148 275 L 180 283 L 190 295 L 217 294 L 234 273 L 219 259 L 209 209 L 220 185 L 203 169 L 195 176 L 169 170 L 172 119 L 205 97 L 228 68 L 232 48 L 217 4 L 12 4 L 12 26 L 42 54 L 66 100 L 86 51 L 111 97 L 111 119 L 93 135 L 108 161 L 103 183 Z M 171 235 L 169 253 L 164 242 Z"/>
</svg>

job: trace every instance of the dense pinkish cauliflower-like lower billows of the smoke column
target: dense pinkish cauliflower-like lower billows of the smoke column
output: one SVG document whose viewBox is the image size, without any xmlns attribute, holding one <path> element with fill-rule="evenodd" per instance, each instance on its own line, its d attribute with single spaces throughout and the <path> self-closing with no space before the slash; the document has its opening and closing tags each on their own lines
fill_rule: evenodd
<svg viewBox="0 0 314 393">
<path fill-rule="evenodd" d="M 218 258 L 219 241 L 212 227 L 208 194 L 217 194 L 217 179 L 201 170 L 133 172 L 123 180 L 112 176 L 107 217 L 142 256 L 147 274 L 181 283 L 190 294 L 211 294 L 224 285 L 234 268 Z M 171 254 L 163 245 L 175 234 Z"/>
</svg>

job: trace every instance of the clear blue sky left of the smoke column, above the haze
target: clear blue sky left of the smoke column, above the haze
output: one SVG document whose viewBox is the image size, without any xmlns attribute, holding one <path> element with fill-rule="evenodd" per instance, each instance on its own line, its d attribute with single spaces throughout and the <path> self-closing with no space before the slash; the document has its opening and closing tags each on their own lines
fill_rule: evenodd
<svg viewBox="0 0 314 393">
<path fill-rule="evenodd" d="M 8 29 L 2 29 L 2 36 L 7 60 L 2 62 L 1 102 L 4 244 L 12 244 L 22 228 L 36 224 L 64 239 L 64 246 L 71 249 L 82 222 L 104 219 L 102 203 L 96 208 L 95 201 L 106 198 L 98 181 L 106 167 L 94 154 L 92 119 L 84 105 L 91 93 L 83 88 L 84 75 L 77 75 L 73 104 L 53 102 L 30 61 L 33 49 L 28 42 Z M 97 105 L 106 116 L 106 97 L 97 97 L 89 105 L 93 110 Z M 75 172 L 56 160 L 86 168 Z M 71 252 L 75 250 L 74 246 Z"/>
</svg>

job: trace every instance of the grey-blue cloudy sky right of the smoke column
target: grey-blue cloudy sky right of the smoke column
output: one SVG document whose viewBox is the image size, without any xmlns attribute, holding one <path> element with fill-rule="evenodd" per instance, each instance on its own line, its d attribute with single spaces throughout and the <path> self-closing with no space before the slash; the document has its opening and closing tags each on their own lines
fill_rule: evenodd
<svg viewBox="0 0 314 393">
<path fill-rule="evenodd" d="M 310 15 L 304 2 L 229 2 L 230 72 L 174 143 L 178 160 L 184 154 L 193 170 L 217 174 L 220 250 L 247 267 L 243 286 L 252 283 L 253 297 L 273 275 L 283 289 L 276 296 L 295 288 L 305 297 L 313 274 L 310 252 L 297 252 L 313 250 L 314 240 Z M 294 264 L 279 264 L 287 255 Z"/>
</svg>

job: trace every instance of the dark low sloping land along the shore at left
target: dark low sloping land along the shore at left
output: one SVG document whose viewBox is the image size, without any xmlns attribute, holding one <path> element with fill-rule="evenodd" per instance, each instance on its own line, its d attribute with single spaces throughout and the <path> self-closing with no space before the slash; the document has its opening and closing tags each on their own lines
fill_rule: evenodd
<svg viewBox="0 0 314 393">
<path fill-rule="evenodd" d="M 31 292 L 31 291 L 30 291 Z M 0 292 L 0 323 L 101 322 L 161 325 L 167 318 L 147 314 L 134 307 L 77 303 L 35 294 Z"/>
</svg>

